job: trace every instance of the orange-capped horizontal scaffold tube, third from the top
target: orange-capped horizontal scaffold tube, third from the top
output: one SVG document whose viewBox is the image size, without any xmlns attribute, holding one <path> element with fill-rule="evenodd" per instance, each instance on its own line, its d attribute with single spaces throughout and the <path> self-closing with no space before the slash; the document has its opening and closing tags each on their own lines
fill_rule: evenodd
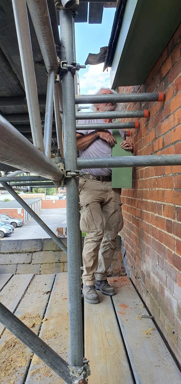
<svg viewBox="0 0 181 384">
<path fill-rule="evenodd" d="M 109 123 L 103 123 L 103 124 L 77 124 L 76 125 L 76 130 L 79 131 L 82 129 L 127 129 L 127 128 L 138 128 L 139 123 L 138 121 L 136 122 L 121 122 L 121 123 L 114 123 L 114 122 L 109 122 Z"/>
</svg>

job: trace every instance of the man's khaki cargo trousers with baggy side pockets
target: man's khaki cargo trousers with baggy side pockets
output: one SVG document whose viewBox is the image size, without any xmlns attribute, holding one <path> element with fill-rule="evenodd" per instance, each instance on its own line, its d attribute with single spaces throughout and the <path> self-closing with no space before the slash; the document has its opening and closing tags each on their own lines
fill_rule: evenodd
<svg viewBox="0 0 181 384">
<path fill-rule="evenodd" d="M 116 248 L 116 237 L 123 227 L 120 189 L 111 182 L 80 178 L 80 229 L 87 233 L 83 246 L 83 284 L 106 280 Z"/>
</svg>

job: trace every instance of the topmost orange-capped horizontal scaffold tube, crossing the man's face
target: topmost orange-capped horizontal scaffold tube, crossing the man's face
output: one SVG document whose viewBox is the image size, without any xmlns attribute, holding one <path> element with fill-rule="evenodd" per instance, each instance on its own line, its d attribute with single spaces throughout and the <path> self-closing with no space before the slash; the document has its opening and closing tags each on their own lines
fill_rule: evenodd
<svg viewBox="0 0 181 384">
<path fill-rule="evenodd" d="M 130 103 L 137 101 L 163 101 L 163 92 L 155 93 L 121 93 L 75 96 L 75 104 L 90 103 Z"/>
</svg>

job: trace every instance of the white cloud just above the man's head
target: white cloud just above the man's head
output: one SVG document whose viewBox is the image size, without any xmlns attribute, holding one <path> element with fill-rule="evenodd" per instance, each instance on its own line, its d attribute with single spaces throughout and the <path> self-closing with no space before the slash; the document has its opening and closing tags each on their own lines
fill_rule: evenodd
<svg viewBox="0 0 181 384">
<path fill-rule="evenodd" d="M 94 94 L 101 87 L 111 87 L 110 69 L 103 72 L 104 64 L 90 65 L 88 71 L 79 75 L 80 94 Z"/>
</svg>

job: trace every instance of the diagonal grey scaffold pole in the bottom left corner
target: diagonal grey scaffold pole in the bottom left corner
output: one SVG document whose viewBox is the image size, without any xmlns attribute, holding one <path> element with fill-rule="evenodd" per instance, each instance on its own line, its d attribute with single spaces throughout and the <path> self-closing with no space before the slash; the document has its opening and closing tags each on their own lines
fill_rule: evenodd
<svg viewBox="0 0 181 384">
<path fill-rule="evenodd" d="M 67 384 L 73 384 L 77 380 L 78 373 L 2 303 L 0 303 L 0 322 Z"/>
</svg>

